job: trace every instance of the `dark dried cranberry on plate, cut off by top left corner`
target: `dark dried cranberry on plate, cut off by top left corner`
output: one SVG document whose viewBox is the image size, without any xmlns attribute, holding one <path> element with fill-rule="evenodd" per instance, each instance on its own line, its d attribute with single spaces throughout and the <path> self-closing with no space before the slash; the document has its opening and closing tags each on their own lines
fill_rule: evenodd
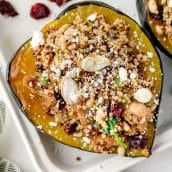
<svg viewBox="0 0 172 172">
<path fill-rule="evenodd" d="M 18 15 L 17 11 L 14 9 L 11 3 L 5 0 L 0 1 L 0 13 L 2 15 L 8 14 L 8 16 L 11 17 Z"/>
</svg>

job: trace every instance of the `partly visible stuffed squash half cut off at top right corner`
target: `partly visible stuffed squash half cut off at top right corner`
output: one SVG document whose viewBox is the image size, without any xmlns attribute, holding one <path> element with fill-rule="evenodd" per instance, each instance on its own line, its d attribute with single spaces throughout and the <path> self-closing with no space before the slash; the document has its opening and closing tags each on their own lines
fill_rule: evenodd
<svg viewBox="0 0 172 172">
<path fill-rule="evenodd" d="M 172 57 L 172 1 L 138 0 L 137 9 L 141 23 L 152 40 Z"/>
</svg>

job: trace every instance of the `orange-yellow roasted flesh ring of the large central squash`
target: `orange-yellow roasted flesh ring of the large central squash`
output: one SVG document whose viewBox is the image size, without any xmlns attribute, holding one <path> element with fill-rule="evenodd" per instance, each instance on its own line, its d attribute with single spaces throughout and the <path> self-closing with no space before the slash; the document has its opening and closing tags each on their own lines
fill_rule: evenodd
<svg viewBox="0 0 172 172">
<path fill-rule="evenodd" d="M 153 88 L 156 91 L 157 97 L 160 97 L 161 94 L 161 84 L 162 84 L 162 71 L 159 57 L 146 37 L 146 35 L 142 32 L 140 27 L 129 17 L 121 14 L 120 12 L 114 11 L 107 7 L 103 7 L 100 5 L 83 5 L 77 6 L 76 8 L 68 11 L 64 16 L 60 17 L 57 20 L 54 20 L 48 23 L 42 29 L 42 32 L 46 34 L 47 32 L 51 32 L 52 30 L 57 30 L 61 26 L 65 24 L 71 24 L 72 21 L 75 20 L 76 15 L 81 16 L 84 20 L 87 20 L 88 16 L 95 13 L 97 15 L 103 15 L 107 23 L 113 23 L 115 19 L 122 19 L 125 21 L 129 27 L 129 38 L 132 38 L 133 41 L 139 42 L 140 49 L 143 52 L 151 52 L 153 57 L 148 58 L 147 66 L 145 68 L 150 68 L 153 64 L 154 71 L 150 70 L 145 71 L 146 77 L 156 78 L 153 82 Z M 137 37 L 134 36 L 137 33 Z M 15 57 L 13 58 L 10 70 L 9 70 L 9 83 L 14 91 L 15 95 L 21 101 L 21 104 L 26 112 L 27 117 L 33 122 L 37 128 L 42 129 L 46 134 L 53 137 L 55 140 L 60 141 L 66 145 L 81 148 L 86 151 L 96 152 L 89 144 L 83 143 L 83 138 L 75 138 L 73 134 L 68 135 L 64 131 L 64 126 L 61 126 L 57 123 L 57 125 L 49 125 L 52 121 L 55 120 L 55 116 L 47 115 L 46 111 L 42 107 L 42 103 L 45 102 L 45 99 L 41 97 L 37 92 L 31 91 L 28 87 L 24 85 L 23 79 L 26 75 L 35 75 L 36 67 L 35 67 L 35 57 L 33 56 L 33 48 L 30 45 L 30 40 L 27 41 L 22 48 L 18 50 Z M 108 62 L 105 61 L 107 64 Z M 83 62 L 84 63 L 84 62 Z M 100 67 L 100 65 L 99 65 Z M 85 67 L 86 68 L 86 67 Z M 84 69 L 85 69 L 84 68 Z M 87 68 L 85 70 L 88 70 Z M 93 70 L 93 69 L 91 69 Z M 90 71 L 89 71 L 90 72 Z M 65 81 L 64 81 L 65 82 Z M 68 100 L 69 101 L 69 100 Z M 155 115 L 156 110 L 153 112 Z M 151 153 L 151 147 L 154 140 L 155 135 L 155 124 L 154 121 L 148 122 L 147 130 L 145 132 L 145 136 L 148 138 L 148 143 L 145 149 L 141 148 L 132 148 L 125 147 L 125 155 L 127 156 L 149 156 Z M 115 135 L 116 139 L 118 136 Z M 118 140 L 119 142 L 119 140 Z M 117 152 L 118 147 L 115 147 L 112 153 Z"/>
</svg>

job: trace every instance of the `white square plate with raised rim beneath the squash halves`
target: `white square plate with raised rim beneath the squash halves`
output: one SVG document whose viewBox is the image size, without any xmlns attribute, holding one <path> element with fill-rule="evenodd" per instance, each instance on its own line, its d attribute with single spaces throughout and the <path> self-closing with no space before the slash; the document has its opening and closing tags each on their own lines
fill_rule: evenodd
<svg viewBox="0 0 172 172">
<path fill-rule="evenodd" d="M 6 65 L 11 60 L 12 54 L 32 35 L 32 31 L 39 30 L 45 23 L 56 18 L 57 14 L 65 8 L 59 8 L 48 0 L 42 0 L 51 9 L 49 18 L 43 20 L 33 20 L 29 16 L 30 6 L 37 0 L 11 0 L 19 12 L 15 18 L 0 17 L 0 67 L 5 70 Z M 80 2 L 73 0 L 72 3 Z M 136 21 L 139 22 L 136 10 L 136 0 L 104 0 L 103 2 L 120 9 Z M 153 154 L 172 146 L 172 60 L 160 54 L 164 67 L 164 88 L 158 120 L 158 131 L 153 146 Z M 88 153 L 68 146 L 62 145 L 52 139 L 38 133 L 32 124 L 22 115 L 16 106 L 14 98 L 9 92 L 4 73 L 0 71 L 0 90 L 5 97 L 8 110 L 21 134 L 28 154 L 35 165 L 37 172 L 49 171 L 97 171 L 115 172 L 144 160 L 144 158 L 121 158 L 116 155 L 101 155 Z M 81 157 L 82 161 L 77 162 L 76 157 Z"/>
</svg>

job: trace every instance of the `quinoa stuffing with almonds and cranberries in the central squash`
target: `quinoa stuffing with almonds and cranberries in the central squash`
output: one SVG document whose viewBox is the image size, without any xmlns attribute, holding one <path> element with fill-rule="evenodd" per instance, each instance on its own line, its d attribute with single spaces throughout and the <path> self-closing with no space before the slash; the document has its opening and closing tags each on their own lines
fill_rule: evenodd
<svg viewBox="0 0 172 172">
<path fill-rule="evenodd" d="M 97 13 L 87 19 L 78 14 L 71 24 L 35 32 L 31 40 L 36 71 L 24 84 L 45 99 L 52 126 L 61 124 L 96 152 L 148 153 L 145 133 L 158 105 L 155 78 L 145 72 L 153 53 L 142 51 L 129 31 L 121 19 L 110 24 Z"/>
</svg>

